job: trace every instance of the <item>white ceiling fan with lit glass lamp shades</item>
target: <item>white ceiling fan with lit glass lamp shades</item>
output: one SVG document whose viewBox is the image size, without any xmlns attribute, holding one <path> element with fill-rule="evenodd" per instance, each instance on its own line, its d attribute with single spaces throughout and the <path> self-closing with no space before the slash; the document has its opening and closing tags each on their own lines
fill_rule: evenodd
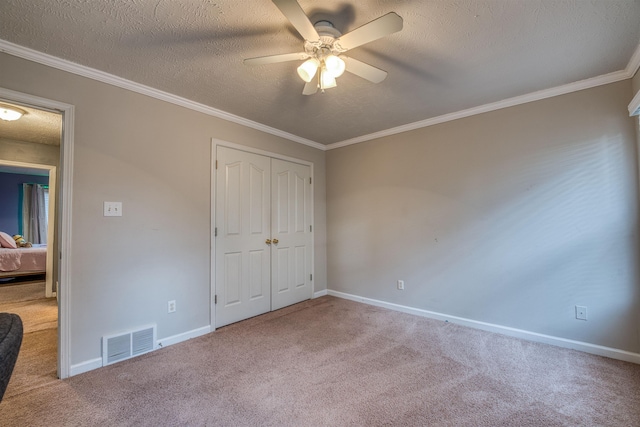
<svg viewBox="0 0 640 427">
<path fill-rule="evenodd" d="M 318 89 L 324 92 L 325 89 L 336 87 L 336 78 L 345 70 L 372 83 L 380 83 L 387 77 L 386 71 L 345 56 L 344 53 L 400 31 L 402 18 L 396 13 L 387 13 L 343 35 L 329 21 L 312 24 L 296 0 L 273 0 L 273 3 L 304 38 L 304 52 L 245 59 L 246 65 L 304 61 L 298 67 L 298 75 L 306 83 L 303 95 L 313 95 Z"/>
</svg>

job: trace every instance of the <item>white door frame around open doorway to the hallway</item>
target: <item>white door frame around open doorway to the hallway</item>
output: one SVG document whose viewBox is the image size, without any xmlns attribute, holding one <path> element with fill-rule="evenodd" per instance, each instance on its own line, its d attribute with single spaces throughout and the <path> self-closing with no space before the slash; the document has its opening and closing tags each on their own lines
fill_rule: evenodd
<svg viewBox="0 0 640 427">
<path fill-rule="evenodd" d="M 58 377 L 68 378 L 71 370 L 71 200 L 73 189 L 73 142 L 75 107 L 39 96 L 0 87 L 0 101 L 22 104 L 62 114 L 60 140 L 58 225 Z"/>
</svg>

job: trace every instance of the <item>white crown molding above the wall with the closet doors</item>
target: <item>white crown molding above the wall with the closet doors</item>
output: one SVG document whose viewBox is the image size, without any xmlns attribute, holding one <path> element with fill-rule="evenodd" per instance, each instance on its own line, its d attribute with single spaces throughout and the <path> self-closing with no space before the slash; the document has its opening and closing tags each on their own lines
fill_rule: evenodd
<svg viewBox="0 0 640 427">
<path fill-rule="evenodd" d="M 94 68 L 67 61 L 66 59 L 57 58 L 55 56 L 42 53 L 37 50 L 20 46 L 6 40 L 0 39 L 0 52 L 17 56 L 22 59 L 27 59 L 29 61 L 33 61 L 42 65 L 47 65 L 58 70 L 67 71 L 69 73 L 76 74 L 82 77 L 97 80 L 102 83 L 117 86 L 122 89 L 127 89 L 132 92 L 149 96 L 151 98 L 169 102 L 171 104 L 179 105 L 190 110 L 198 111 L 209 116 L 217 117 L 219 119 L 246 126 L 248 128 L 256 129 L 261 132 L 269 133 L 271 135 L 279 136 L 281 138 L 307 145 L 318 150 L 324 151 L 326 149 L 323 144 L 320 144 L 318 142 L 311 141 L 309 139 L 302 138 L 276 128 L 272 128 L 267 125 L 263 125 L 262 123 L 254 122 L 253 120 L 245 119 L 244 117 L 236 116 L 235 114 L 227 113 L 226 111 L 218 110 L 217 108 L 200 104 L 199 102 L 194 102 L 186 98 L 170 94 L 168 92 L 154 89 L 140 83 L 132 82 L 131 80 L 123 79 L 121 77 L 114 76 L 113 74 L 105 73 L 104 71 L 96 70 Z"/>
</svg>

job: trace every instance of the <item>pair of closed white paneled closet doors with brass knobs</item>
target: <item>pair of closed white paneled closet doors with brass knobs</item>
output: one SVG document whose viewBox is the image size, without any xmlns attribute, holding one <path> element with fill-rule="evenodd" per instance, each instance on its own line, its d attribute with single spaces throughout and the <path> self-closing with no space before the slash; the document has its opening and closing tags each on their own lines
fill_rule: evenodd
<svg viewBox="0 0 640 427">
<path fill-rule="evenodd" d="M 215 327 L 312 297 L 311 167 L 217 146 Z"/>
</svg>

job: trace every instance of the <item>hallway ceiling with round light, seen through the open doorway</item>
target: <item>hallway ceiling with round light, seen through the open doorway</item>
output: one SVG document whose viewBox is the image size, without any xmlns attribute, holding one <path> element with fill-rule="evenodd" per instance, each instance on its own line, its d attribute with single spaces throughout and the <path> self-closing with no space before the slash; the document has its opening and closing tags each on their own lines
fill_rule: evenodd
<svg viewBox="0 0 640 427">
<path fill-rule="evenodd" d="M 2 102 L 2 104 L 13 105 L 26 111 L 27 114 L 11 122 L 0 120 L 0 138 L 60 145 L 62 115 L 8 102 Z"/>
</svg>

